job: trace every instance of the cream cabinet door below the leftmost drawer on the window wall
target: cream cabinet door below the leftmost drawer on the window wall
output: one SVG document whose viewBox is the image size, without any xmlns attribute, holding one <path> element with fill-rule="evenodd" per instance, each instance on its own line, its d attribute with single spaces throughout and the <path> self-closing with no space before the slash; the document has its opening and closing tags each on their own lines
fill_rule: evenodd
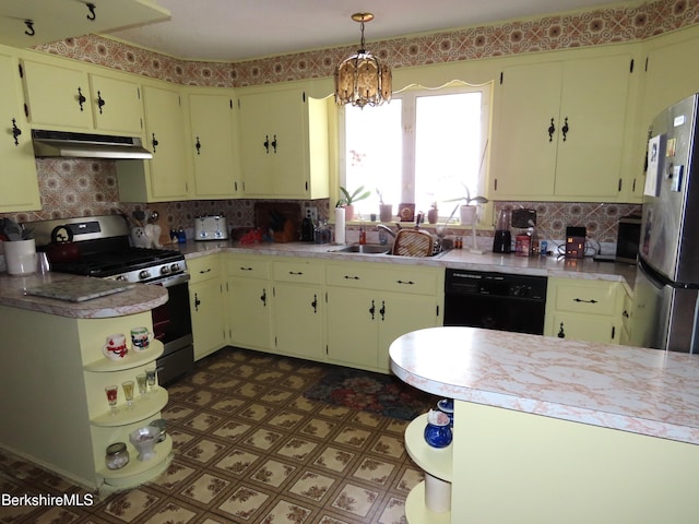
<svg viewBox="0 0 699 524">
<path fill-rule="evenodd" d="M 269 281 L 228 278 L 230 343 L 250 349 L 272 347 L 272 297 Z"/>
</svg>

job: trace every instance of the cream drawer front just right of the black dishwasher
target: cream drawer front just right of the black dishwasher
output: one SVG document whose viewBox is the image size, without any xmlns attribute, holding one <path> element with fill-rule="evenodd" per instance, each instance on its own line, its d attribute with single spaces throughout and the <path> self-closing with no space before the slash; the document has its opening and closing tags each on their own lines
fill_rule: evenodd
<svg viewBox="0 0 699 524">
<path fill-rule="evenodd" d="M 584 284 L 557 284 L 553 309 L 590 314 L 615 314 L 619 283 L 585 281 Z"/>
</svg>

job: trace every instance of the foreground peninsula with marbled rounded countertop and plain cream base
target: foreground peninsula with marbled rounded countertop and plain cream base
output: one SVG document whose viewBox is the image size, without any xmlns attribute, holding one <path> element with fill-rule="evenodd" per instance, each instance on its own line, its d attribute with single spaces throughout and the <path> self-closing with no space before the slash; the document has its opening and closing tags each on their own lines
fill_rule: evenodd
<svg viewBox="0 0 699 524">
<path fill-rule="evenodd" d="M 696 522 L 696 355 L 473 327 L 408 333 L 390 355 L 454 398 L 451 522 Z"/>
</svg>

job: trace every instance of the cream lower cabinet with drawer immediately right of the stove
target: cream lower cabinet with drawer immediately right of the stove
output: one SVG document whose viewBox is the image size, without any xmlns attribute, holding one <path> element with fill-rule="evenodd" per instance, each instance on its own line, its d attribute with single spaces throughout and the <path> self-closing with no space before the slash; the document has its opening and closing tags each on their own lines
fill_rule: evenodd
<svg viewBox="0 0 699 524">
<path fill-rule="evenodd" d="M 194 359 L 211 355 L 226 345 L 226 313 L 223 270 L 220 254 L 187 262 L 189 303 L 192 315 Z"/>
</svg>

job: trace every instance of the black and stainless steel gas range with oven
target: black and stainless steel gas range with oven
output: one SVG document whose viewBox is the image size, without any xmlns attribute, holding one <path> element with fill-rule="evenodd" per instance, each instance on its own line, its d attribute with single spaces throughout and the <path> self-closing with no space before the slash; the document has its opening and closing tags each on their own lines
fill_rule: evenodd
<svg viewBox="0 0 699 524">
<path fill-rule="evenodd" d="M 56 231 L 70 231 L 71 257 L 51 260 L 54 272 L 164 286 L 168 300 L 152 311 L 155 338 L 165 346 L 156 361 L 158 382 L 166 384 L 193 369 L 189 273 L 182 253 L 132 247 L 129 224 L 120 215 L 39 221 L 24 227 L 32 229 L 37 249 L 49 253 Z"/>
</svg>

